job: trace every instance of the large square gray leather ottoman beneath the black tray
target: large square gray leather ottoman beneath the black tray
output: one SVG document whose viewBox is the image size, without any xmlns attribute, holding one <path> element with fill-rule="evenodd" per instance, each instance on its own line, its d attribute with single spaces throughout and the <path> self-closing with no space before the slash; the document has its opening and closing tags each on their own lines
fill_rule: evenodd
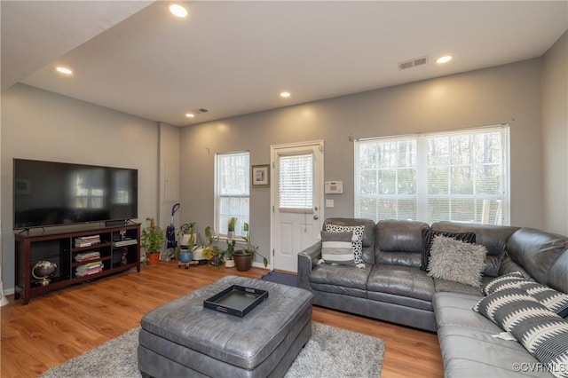
<svg viewBox="0 0 568 378">
<path fill-rule="evenodd" d="M 203 307 L 232 285 L 267 290 L 244 318 Z M 312 335 L 312 293 L 228 276 L 148 312 L 140 322 L 138 368 L 154 377 L 280 377 Z"/>
</svg>

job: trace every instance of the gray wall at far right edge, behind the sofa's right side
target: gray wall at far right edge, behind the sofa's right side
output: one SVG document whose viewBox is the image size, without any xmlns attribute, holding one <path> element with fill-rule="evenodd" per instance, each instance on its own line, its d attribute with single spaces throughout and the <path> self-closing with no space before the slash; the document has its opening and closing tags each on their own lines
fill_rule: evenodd
<svg viewBox="0 0 568 378">
<path fill-rule="evenodd" d="M 568 235 L 568 31 L 542 69 L 544 228 Z"/>
</svg>

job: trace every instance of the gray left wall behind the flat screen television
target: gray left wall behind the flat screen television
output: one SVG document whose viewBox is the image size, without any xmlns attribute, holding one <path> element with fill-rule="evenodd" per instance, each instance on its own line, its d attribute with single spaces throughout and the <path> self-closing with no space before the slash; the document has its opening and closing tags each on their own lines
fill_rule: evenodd
<svg viewBox="0 0 568 378">
<path fill-rule="evenodd" d="M 2 277 L 6 293 L 14 287 L 12 159 L 138 169 L 138 217 L 144 219 L 158 214 L 158 130 L 156 122 L 24 84 L 2 91 Z"/>
</svg>

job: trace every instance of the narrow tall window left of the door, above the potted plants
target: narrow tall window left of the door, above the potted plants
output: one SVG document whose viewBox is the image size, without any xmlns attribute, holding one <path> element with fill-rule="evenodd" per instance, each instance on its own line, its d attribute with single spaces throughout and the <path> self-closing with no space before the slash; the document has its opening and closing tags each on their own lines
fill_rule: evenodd
<svg viewBox="0 0 568 378">
<path fill-rule="evenodd" d="M 235 234 L 246 236 L 243 225 L 248 222 L 249 209 L 248 152 L 217 154 L 215 164 L 215 230 L 227 234 L 229 219 L 237 218 Z"/>
</svg>

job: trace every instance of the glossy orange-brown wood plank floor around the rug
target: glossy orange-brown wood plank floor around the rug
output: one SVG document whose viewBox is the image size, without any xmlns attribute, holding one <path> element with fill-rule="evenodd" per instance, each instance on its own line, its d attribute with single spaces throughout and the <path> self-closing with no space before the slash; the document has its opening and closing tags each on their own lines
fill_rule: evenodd
<svg viewBox="0 0 568 378">
<path fill-rule="evenodd" d="M 229 274 L 260 278 L 266 272 L 206 265 L 185 270 L 176 263 L 160 263 L 143 266 L 139 273 L 131 270 L 34 297 L 27 306 L 9 297 L 12 303 L 1 310 L 1 376 L 36 377 L 138 327 L 147 311 L 193 289 Z M 386 343 L 383 378 L 443 375 L 435 334 L 317 306 L 312 319 L 382 338 Z"/>
</svg>

